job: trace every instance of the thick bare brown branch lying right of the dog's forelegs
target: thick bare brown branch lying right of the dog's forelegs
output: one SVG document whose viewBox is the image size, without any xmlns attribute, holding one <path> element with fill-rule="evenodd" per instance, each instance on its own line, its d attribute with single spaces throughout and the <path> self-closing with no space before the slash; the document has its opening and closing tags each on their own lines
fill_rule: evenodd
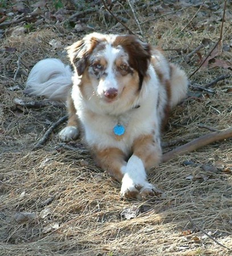
<svg viewBox="0 0 232 256">
<path fill-rule="evenodd" d="M 221 131 L 214 131 L 213 133 L 203 135 L 200 138 L 194 139 L 193 141 L 190 141 L 183 146 L 177 147 L 165 153 L 162 157 L 162 162 L 167 162 L 168 160 L 175 158 L 176 156 L 184 155 L 186 153 L 197 150 L 198 148 L 204 147 L 210 143 L 222 141 L 223 139 L 229 139 L 231 137 L 232 127 Z"/>
</svg>

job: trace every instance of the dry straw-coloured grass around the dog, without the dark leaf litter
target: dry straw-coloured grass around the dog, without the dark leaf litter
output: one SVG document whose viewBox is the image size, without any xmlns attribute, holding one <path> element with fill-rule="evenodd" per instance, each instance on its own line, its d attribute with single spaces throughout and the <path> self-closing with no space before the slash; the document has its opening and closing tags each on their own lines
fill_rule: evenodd
<svg viewBox="0 0 232 256">
<path fill-rule="evenodd" d="M 207 23 L 206 19 L 218 20 L 222 13 L 214 14 L 204 8 L 194 19 L 198 29 L 188 27 L 180 33 L 196 11 L 197 8 L 189 8 L 142 26 L 144 39 L 150 43 L 164 49 L 182 49 L 167 51 L 167 55 L 189 75 L 196 69 L 198 57 L 194 55 L 190 63 L 184 57 L 203 38 L 216 42 L 221 25 Z M 137 10 L 137 15 L 140 22 L 148 19 L 146 10 Z M 227 15 L 232 15 L 231 5 Z M 137 31 L 132 14 L 131 18 L 130 28 Z M 121 27 L 113 29 L 113 20 L 106 26 L 96 15 L 92 19 L 97 31 L 125 32 Z M 63 49 L 52 50 L 49 41 L 60 40 L 65 47 L 83 34 L 73 35 L 61 25 L 41 25 L 22 36 L 6 34 L 1 42 L 0 48 L 16 47 L 17 51 L 0 56 L 0 255 L 231 255 L 231 251 L 206 237 L 188 219 L 192 217 L 210 236 L 232 248 L 231 139 L 154 168 L 149 179 L 163 193 L 147 201 L 120 200 L 120 184 L 94 166 L 80 141 L 69 143 L 79 148 L 75 152 L 57 146 L 59 139 L 53 134 L 43 148 L 32 151 L 49 124 L 63 116 L 65 110 L 14 109 L 14 98 L 30 100 L 21 90 L 26 76 L 20 75 L 13 81 L 18 56 L 27 51 L 23 56 L 27 71 L 44 57 L 60 57 L 67 62 Z M 67 35 L 72 36 L 67 39 Z M 230 19 L 225 22 L 223 38 L 224 44 L 231 44 Z M 202 49 L 201 54 L 208 51 L 209 48 Z M 231 61 L 231 51 L 222 51 L 219 57 Z M 229 73 L 222 67 L 202 68 L 191 77 L 191 82 L 204 86 Z M 14 85 L 21 89 L 9 90 Z M 164 141 L 190 141 L 208 133 L 198 128 L 200 123 L 216 129 L 231 126 L 231 80 L 218 82 L 213 89 L 216 93 L 203 93 L 173 110 Z M 220 162 L 223 167 L 218 172 L 204 171 L 200 166 L 183 166 L 184 160 L 212 166 Z M 137 210 L 138 214 L 126 220 L 121 216 L 125 209 Z M 36 217 L 16 222 L 17 212 L 35 213 Z"/>
</svg>

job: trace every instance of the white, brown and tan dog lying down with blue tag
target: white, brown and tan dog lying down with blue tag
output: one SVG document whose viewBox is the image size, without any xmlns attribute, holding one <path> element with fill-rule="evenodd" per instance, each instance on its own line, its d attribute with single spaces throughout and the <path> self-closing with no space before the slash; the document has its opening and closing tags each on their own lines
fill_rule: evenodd
<svg viewBox="0 0 232 256">
<path fill-rule="evenodd" d="M 97 166 L 121 181 L 122 197 L 152 195 L 146 170 L 161 162 L 160 133 L 187 95 L 185 72 L 134 35 L 94 32 L 67 52 L 73 72 L 58 59 L 39 61 L 25 92 L 67 101 L 60 138 L 81 133 Z"/>
</svg>

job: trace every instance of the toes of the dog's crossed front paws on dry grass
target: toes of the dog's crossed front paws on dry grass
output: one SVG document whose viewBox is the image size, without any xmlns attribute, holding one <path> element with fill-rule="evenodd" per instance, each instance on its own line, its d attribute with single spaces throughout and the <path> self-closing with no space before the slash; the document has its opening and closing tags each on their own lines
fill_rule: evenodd
<svg viewBox="0 0 232 256">
<path fill-rule="evenodd" d="M 153 185 L 147 181 L 135 183 L 129 174 L 125 174 L 122 179 L 121 196 L 142 200 L 154 195 L 153 189 Z"/>
</svg>

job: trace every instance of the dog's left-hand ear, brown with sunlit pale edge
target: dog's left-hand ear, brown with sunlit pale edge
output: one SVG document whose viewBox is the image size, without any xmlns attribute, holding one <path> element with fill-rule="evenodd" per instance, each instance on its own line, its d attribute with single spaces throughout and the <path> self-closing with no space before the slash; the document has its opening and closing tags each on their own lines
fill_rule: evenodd
<svg viewBox="0 0 232 256">
<path fill-rule="evenodd" d="M 85 36 L 82 40 L 67 47 L 69 59 L 74 68 L 76 68 L 78 76 L 81 76 L 88 64 L 88 59 L 93 49 L 100 43 L 97 33 Z"/>
</svg>

